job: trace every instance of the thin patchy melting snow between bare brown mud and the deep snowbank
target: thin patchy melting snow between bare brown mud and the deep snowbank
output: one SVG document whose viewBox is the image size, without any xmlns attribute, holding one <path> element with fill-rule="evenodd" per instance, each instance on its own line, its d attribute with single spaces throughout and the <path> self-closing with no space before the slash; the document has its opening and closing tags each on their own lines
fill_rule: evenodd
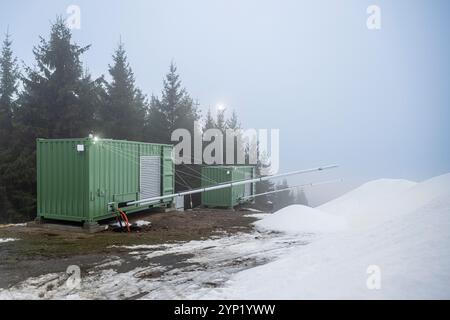
<svg viewBox="0 0 450 320">
<path fill-rule="evenodd" d="M 79 287 L 71 286 L 66 273 L 52 273 L 0 290 L 0 299 L 204 299 L 233 274 L 282 257 L 313 238 L 255 232 L 124 246 L 138 267 L 120 271 L 130 261 L 111 257 L 82 275 Z"/>
</svg>

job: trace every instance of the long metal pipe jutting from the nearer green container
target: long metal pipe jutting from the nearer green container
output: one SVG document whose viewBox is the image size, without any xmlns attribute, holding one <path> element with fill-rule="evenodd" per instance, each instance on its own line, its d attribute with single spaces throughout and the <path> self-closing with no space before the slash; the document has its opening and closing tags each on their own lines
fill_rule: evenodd
<svg viewBox="0 0 450 320">
<path fill-rule="evenodd" d="M 133 206 L 133 205 L 136 205 L 136 204 L 145 205 L 145 204 L 152 203 L 152 202 L 155 202 L 155 201 L 169 199 L 169 198 L 174 198 L 174 197 L 178 197 L 178 196 L 181 197 L 181 196 L 187 196 L 187 195 L 196 194 L 196 193 L 202 193 L 202 192 L 206 192 L 206 191 L 213 191 L 213 190 L 231 188 L 231 187 L 240 186 L 240 185 L 247 184 L 247 183 L 255 183 L 255 182 L 261 182 L 261 181 L 267 181 L 267 180 L 274 179 L 274 178 L 281 178 L 281 177 L 292 176 L 292 175 L 303 174 L 303 173 L 309 173 L 309 172 L 315 172 L 315 171 L 323 171 L 323 170 L 333 169 L 333 168 L 337 168 L 337 167 L 338 167 L 338 165 L 329 165 L 329 166 L 323 166 L 323 167 L 318 167 L 318 168 L 312 168 L 312 169 L 305 169 L 305 170 L 298 170 L 298 171 L 292 171 L 292 172 L 287 172 L 287 173 L 275 174 L 275 175 L 271 175 L 271 176 L 265 176 L 265 177 L 254 178 L 254 179 L 249 179 L 249 180 L 234 181 L 234 182 L 224 183 L 224 184 L 211 186 L 211 187 L 206 187 L 206 188 L 199 188 L 199 189 L 194 189 L 194 190 L 182 191 L 182 192 L 179 192 L 179 193 L 167 194 L 167 195 L 158 196 L 158 197 L 151 197 L 151 198 L 147 198 L 147 199 L 130 201 L 130 202 L 127 202 L 125 206 L 128 207 L 128 206 Z"/>
</svg>

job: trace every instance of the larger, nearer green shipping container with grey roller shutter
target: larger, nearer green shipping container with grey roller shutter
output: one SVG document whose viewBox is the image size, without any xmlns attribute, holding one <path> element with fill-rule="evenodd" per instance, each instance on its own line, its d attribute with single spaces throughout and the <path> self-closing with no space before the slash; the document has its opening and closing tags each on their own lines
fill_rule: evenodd
<svg viewBox="0 0 450 320">
<path fill-rule="evenodd" d="M 37 215 L 93 223 L 108 204 L 174 193 L 171 145 L 109 139 L 37 140 Z M 172 199 L 123 208 L 170 206 Z"/>
</svg>

